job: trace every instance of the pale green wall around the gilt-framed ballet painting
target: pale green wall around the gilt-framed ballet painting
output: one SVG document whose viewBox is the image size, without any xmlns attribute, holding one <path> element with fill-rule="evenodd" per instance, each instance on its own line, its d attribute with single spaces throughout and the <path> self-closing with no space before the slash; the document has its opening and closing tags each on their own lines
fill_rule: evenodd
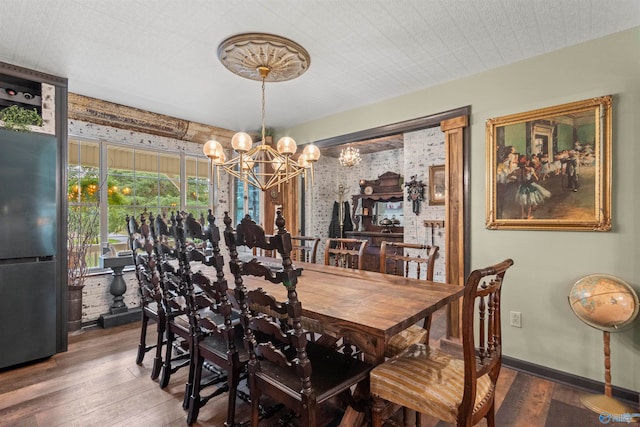
<svg viewBox="0 0 640 427">
<path fill-rule="evenodd" d="M 503 311 L 522 312 L 522 328 L 504 329 L 504 354 L 604 381 L 602 333 L 574 316 L 567 294 L 592 273 L 613 274 L 640 290 L 639 76 L 637 27 L 287 132 L 305 143 L 470 105 L 471 267 L 513 258 Z M 609 94 L 614 96 L 613 230 L 487 230 L 486 120 Z M 640 391 L 639 323 L 611 337 L 612 383 L 633 391 Z"/>
</svg>

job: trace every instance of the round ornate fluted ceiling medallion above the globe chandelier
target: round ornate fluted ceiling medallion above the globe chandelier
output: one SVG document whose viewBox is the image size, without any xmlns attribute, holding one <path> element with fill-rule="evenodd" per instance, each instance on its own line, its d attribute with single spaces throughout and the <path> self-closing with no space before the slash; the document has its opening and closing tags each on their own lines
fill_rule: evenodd
<svg viewBox="0 0 640 427">
<path fill-rule="evenodd" d="M 218 59 L 241 77 L 262 81 L 259 67 L 267 67 L 266 82 L 295 79 L 309 68 L 311 58 L 298 43 L 273 34 L 245 33 L 231 36 L 218 46 Z"/>
</svg>

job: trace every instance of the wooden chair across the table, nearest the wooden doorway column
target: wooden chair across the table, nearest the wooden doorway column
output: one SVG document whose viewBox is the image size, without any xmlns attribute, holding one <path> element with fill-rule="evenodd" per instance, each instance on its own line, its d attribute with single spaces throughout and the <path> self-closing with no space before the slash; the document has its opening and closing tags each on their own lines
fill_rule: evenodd
<svg viewBox="0 0 640 427">
<path fill-rule="evenodd" d="M 380 272 L 432 281 L 438 250 L 438 246 L 383 241 L 380 245 Z M 385 356 L 393 357 L 412 344 L 428 343 L 430 329 L 431 315 L 422 320 L 422 326 L 411 325 L 392 336 L 387 342 Z"/>
</svg>

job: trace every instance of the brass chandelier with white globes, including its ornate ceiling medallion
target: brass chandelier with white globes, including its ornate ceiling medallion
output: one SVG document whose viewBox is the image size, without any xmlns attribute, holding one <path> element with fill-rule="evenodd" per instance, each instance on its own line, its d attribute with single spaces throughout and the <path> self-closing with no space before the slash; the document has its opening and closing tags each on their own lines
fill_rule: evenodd
<svg viewBox="0 0 640 427">
<path fill-rule="evenodd" d="M 311 171 L 320 158 L 320 150 L 313 144 L 305 146 L 296 160 L 297 144 L 285 136 L 278 140 L 276 149 L 265 138 L 265 82 L 294 79 L 309 67 L 307 51 L 297 43 L 271 34 L 240 34 L 223 41 L 218 47 L 220 62 L 232 73 L 262 82 L 262 139 L 254 146 L 251 136 L 238 132 L 231 138 L 231 146 L 237 156 L 226 160 L 222 145 L 207 141 L 204 154 L 211 159 L 212 167 L 220 169 L 253 185 L 262 191 L 280 186 L 290 179 Z"/>
</svg>

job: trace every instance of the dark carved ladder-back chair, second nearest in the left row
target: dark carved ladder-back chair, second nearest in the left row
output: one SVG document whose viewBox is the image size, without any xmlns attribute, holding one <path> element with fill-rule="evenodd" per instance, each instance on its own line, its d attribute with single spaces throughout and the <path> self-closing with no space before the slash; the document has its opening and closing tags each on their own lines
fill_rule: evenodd
<svg viewBox="0 0 640 427">
<path fill-rule="evenodd" d="M 211 211 L 209 211 L 208 223 L 206 236 L 211 244 L 212 255 L 203 263 L 215 267 L 216 278 L 211 281 L 200 271 L 191 276 L 193 286 L 190 288 L 191 292 L 187 302 L 193 341 L 188 380 L 190 397 L 187 424 L 192 425 L 198 420 L 200 408 L 209 400 L 228 391 L 225 425 L 234 426 L 238 385 L 249 357 L 246 351 L 240 351 L 244 349 L 244 333 L 239 316 L 229 301 L 229 287 L 223 271 L 224 258 L 219 245 L 220 231 L 215 225 L 215 218 Z M 198 286 L 202 290 L 201 295 L 195 296 L 193 294 L 194 286 Z M 239 303 L 243 302 L 243 296 L 240 295 Z M 218 314 L 218 317 L 205 316 L 199 312 L 198 308 L 204 305 L 208 305 L 212 312 Z M 203 381 L 205 364 L 207 364 L 208 370 L 214 369 L 217 373 L 217 377 L 213 381 Z M 205 389 L 211 390 L 212 386 L 215 388 L 203 395 L 203 391 Z"/>
</svg>

